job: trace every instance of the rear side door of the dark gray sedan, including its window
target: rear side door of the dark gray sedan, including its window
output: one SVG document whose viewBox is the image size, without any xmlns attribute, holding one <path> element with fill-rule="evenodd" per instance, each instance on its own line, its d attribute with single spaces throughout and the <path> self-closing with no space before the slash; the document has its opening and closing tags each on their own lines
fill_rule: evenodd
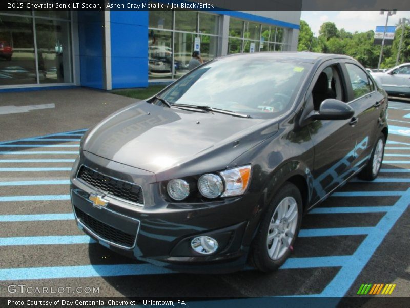
<svg viewBox="0 0 410 308">
<path fill-rule="evenodd" d="M 357 63 L 346 61 L 343 66 L 346 76 L 348 104 L 355 110 L 354 121 L 357 143 L 353 161 L 346 176 L 351 176 L 366 164 L 379 134 L 379 117 L 384 97 L 376 91 L 368 74 Z"/>
</svg>

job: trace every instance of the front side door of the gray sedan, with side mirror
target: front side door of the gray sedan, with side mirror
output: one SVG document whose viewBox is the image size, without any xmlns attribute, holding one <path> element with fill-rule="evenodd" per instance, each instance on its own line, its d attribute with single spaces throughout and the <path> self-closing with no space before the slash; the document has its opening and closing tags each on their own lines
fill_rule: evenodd
<svg viewBox="0 0 410 308">
<path fill-rule="evenodd" d="M 315 88 L 317 88 L 316 84 L 323 72 L 327 75 L 329 84 L 327 90 L 331 93 L 330 95 L 334 91 L 333 98 L 347 102 L 348 93 L 340 60 L 327 61 L 315 73 L 308 90 L 310 99 L 308 99 L 306 108 L 318 110 L 320 106 L 322 99 L 315 102 L 314 96 Z M 335 79 L 334 87 L 333 79 Z M 323 95 L 322 98 L 331 97 Z M 347 172 L 351 169 L 357 145 L 357 127 L 352 125 L 351 122 L 352 119 L 315 120 L 309 124 L 309 131 L 315 149 L 314 169 L 312 170 L 314 186 L 312 204 L 325 197 L 347 178 Z"/>
</svg>

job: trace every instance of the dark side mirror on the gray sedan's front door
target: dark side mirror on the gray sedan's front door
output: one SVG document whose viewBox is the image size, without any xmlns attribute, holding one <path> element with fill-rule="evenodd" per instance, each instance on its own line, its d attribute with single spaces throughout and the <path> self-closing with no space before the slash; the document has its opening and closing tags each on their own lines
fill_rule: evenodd
<svg viewBox="0 0 410 308">
<path fill-rule="evenodd" d="M 347 120 L 353 117 L 355 110 L 346 103 L 335 100 L 324 100 L 319 111 L 312 111 L 308 115 L 310 120 Z"/>
</svg>

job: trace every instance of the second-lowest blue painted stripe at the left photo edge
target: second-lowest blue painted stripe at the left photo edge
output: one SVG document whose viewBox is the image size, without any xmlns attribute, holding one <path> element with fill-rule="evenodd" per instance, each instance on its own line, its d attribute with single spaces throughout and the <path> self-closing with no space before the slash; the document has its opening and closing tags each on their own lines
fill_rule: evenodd
<svg viewBox="0 0 410 308">
<path fill-rule="evenodd" d="M 94 244 L 87 235 L 27 236 L 0 238 L 0 246 Z"/>
</svg>

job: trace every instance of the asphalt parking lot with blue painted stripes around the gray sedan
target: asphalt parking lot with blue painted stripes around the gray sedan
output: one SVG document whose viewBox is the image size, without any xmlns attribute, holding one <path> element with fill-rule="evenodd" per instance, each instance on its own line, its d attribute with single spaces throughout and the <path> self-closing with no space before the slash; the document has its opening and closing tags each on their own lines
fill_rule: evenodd
<svg viewBox="0 0 410 308">
<path fill-rule="evenodd" d="M 55 98 L 61 95 L 49 92 Z M 52 102 L 44 91 L 35 93 Z M 1 297 L 363 297 L 357 295 L 362 284 L 396 284 L 391 295 L 377 296 L 410 294 L 410 103 L 389 102 L 380 176 L 373 182 L 354 178 L 306 215 L 292 257 L 279 271 L 261 274 L 249 268 L 194 275 L 119 256 L 77 229 L 69 174 L 79 140 L 92 123 L 131 102 L 114 94 L 104 99 L 103 93 L 95 95 L 98 104 L 110 98 L 117 103 L 96 116 L 97 103 L 84 99 L 88 105 L 81 109 L 76 102 L 81 119 L 74 124 L 67 124 L 75 116 L 70 106 L 47 109 L 53 121 L 46 128 L 31 129 L 30 123 L 38 120 L 25 120 L 39 110 L 0 114 L 5 132 L 0 141 Z M 7 105 L 0 103 L 0 110 Z M 64 119 L 60 124 L 59 118 Z M 61 287 L 64 292 L 9 293 L 11 284 Z M 85 292 L 87 287 L 99 288 L 99 293 Z M 366 297 L 371 301 L 375 296 Z"/>
</svg>

